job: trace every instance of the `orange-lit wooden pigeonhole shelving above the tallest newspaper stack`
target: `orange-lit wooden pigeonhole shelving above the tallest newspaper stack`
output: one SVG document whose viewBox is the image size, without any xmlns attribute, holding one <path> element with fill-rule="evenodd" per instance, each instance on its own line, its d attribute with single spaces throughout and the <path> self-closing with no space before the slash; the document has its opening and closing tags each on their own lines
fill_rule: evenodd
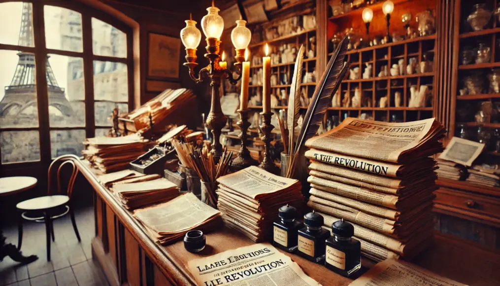
<svg viewBox="0 0 500 286">
<path fill-rule="evenodd" d="M 381 7 L 383 2 L 369 6 L 373 11 L 373 20 L 370 25 L 370 39 L 376 35 L 384 36 L 385 18 L 382 15 Z M 401 29 L 402 27 L 394 27 L 400 25 L 400 15 L 404 13 L 411 13 L 413 17 L 426 8 L 435 10 L 438 2 L 432 0 L 423 0 L 418 5 L 408 0 L 395 0 L 394 15 L 391 15 L 391 28 Z M 361 19 L 362 9 L 357 9 L 349 13 L 328 17 L 328 35 L 335 35 L 337 32 L 344 31 L 346 28 L 355 27 L 355 34 L 365 36 L 364 23 Z M 414 18 L 413 18 L 414 19 Z M 414 20 L 413 20 L 414 21 Z M 395 24 L 399 22 L 398 24 Z M 394 26 L 393 26 L 394 25 Z M 412 22 L 411 26 L 416 28 L 416 23 Z M 391 32 L 393 31 L 391 29 Z M 401 29 L 402 30 L 402 29 Z M 398 30 L 396 34 L 403 34 L 404 32 Z M 331 37 L 328 38 L 328 43 Z M 387 43 L 383 45 L 376 45 L 365 47 L 361 49 L 350 50 L 347 52 L 347 61 L 350 64 L 350 69 L 359 68 L 359 79 L 349 79 L 349 76 L 342 81 L 340 86 L 341 102 L 344 94 L 347 93 L 351 98 L 354 96 L 354 90 L 359 89 L 361 92 L 361 107 L 342 106 L 328 108 L 327 116 L 336 115 L 340 121 L 344 117 L 359 117 L 361 114 L 366 114 L 374 120 L 379 121 L 413 121 L 434 116 L 434 99 L 435 99 L 435 76 L 436 68 L 432 72 L 420 73 L 420 62 L 424 61 L 424 55 L 433 62 L 435 62 L 434 49 L 436 47 L 436 34 L 429 36 L 416 37 Z M 331 47 L 327 52 L 327 58 L 333 54 Z M 417 73 L 406 74 L 406 66 L 409 59 L 416 59 Z M 378 74 L 383 66 L 387 66 L 387 72 L 390 73 L 390 68 L 393 64 L 403 61 L 403 74 L 397 76 L 383 76 L 378 77 Z M 371 77 L 367 79 L 362 78 L 365 71 L 366 64 L 371 65 Z M 425 107 L 410 108 L 408 107 L 410 98 L 410 87 L 415 86 L 416 91 L 420 86 L 427 85 L 432 93 L 432 99 L 427 101 Z M 395 92 L 401 94 L 401 102 L 398 107 L 395 106 Z M 387 104 L 384 108 L 380 108 L 380 98 L 387 97 Z"/>
</svg>

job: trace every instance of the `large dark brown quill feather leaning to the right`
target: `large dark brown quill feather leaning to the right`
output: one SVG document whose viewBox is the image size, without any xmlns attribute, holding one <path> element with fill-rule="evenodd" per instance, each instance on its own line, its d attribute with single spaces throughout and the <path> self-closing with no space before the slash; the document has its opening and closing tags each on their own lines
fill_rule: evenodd
<svg viewBox="0 0 500 286">
<path fill-rule="evenodd" d="M 298 134 L 293 156 L 298 154 L 300 147 L 305 144 L 307 139 L 316 134 L 330 103 L 331 95 L 337 91 L 340 82 L 347 72 L 348 64 L 344 64 L 346 52 L 347 40 L 344 37 L 326 65 L 321 80 L 312 95 L 311 103 L 304 117 L 304 123 Z"/>
</svg>

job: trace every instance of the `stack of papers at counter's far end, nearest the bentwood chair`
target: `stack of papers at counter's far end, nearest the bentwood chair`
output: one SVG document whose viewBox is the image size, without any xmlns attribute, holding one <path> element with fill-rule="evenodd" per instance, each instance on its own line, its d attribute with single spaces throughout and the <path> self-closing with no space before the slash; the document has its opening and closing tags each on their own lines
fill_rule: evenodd
<svg viewBox="0 0 500 286">
<path fill-rule="evenodd" d="M 81 151 L 91 166 L 103 173 L 123 170 L 149 147 L 149 141 L 138 134 L 123 137 L 87 138 Z"/>
</svg>

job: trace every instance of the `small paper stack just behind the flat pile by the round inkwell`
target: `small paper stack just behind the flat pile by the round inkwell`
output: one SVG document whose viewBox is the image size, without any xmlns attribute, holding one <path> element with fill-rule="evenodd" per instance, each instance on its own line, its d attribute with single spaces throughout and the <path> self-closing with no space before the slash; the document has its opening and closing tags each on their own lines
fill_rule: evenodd
<svg viewBox="0 0 500 286">
<path fill-rule="evenodd" d="M 110 190 L 127 209 L 168 201 L 179 195 L 177 185 L 157 174 L 115 182 Z"/>
</svg>

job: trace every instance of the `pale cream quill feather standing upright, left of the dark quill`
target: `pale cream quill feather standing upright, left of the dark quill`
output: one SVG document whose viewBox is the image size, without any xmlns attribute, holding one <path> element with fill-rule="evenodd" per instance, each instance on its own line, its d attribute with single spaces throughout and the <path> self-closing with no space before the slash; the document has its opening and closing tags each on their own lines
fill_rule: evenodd
<svg viewBox="0 0 500 286">
<path fill-rule="evenodd" d="M 288 154 L 293 152 L 293 143 L 295 143 L 294 131 L 297 126 L 297 120 L 300 115 L 300 85 L 302 84 L 302 62 L 304 60 L 303 46 L 298 49 L 297 59 L 295 60 L 295 69 L 291 79 L 290 95 L 288 96 L 288 116 L 286 125 L 288 126 Z"/>
</svg>

